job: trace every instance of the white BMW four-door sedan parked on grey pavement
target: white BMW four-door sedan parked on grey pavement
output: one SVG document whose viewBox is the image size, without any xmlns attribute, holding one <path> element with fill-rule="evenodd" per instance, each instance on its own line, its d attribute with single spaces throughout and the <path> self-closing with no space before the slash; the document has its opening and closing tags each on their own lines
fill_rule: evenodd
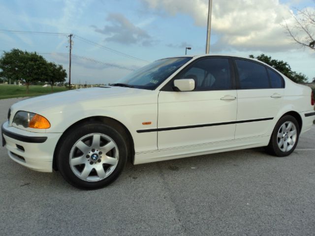
<svg viewBox="0 0 315 236">
<path fill-rule="evenodd" d="M 15 103 L 2 124 L 9 157 L 99 188 L 133 164 L 243 148 L 287 156 L 315 116 L 312 90 L 253 59 L 157 60 L 111 86 Z"/>
</svg>

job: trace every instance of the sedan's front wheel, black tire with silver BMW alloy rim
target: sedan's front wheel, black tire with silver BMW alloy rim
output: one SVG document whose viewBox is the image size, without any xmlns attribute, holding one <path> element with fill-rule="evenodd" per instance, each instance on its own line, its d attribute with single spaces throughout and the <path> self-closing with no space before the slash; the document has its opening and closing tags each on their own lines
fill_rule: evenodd
<svg viewBox="0 0 315 236">
<path fill-rule="evenodd" d="M 104 187 L 119 177 L 127 161 L 127 146 L 118 127 L 85 122 L 68 130 L 57 150 L 63 178 L 82 189 Z"/>
</svg>

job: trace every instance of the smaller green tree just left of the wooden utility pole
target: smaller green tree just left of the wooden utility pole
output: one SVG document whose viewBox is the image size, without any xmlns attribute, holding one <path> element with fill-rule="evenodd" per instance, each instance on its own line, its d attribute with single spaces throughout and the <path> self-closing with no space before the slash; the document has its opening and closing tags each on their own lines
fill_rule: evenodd
<svg viewBox="0 0 315 236">
<path fill-rule="evenodd" d="M 53 91 L 53 86 L 56 83 L 65 82 L 67 73 L 65 72 L 65 69 L 63 69 L 62 65 L 57 65 L 54 62 L 48 62 L 46 67 L 45 81 L 50 84 L 51 90 Z"/>
</svg>

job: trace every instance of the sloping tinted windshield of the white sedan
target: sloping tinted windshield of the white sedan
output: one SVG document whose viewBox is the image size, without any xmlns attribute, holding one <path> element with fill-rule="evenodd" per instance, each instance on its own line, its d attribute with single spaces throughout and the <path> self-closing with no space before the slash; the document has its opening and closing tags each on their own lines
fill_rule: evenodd
<svg viewBox="0 0 315 236">
<path fill-rule="evenodd" d="M 137 89 L 156 89 L 164 80 L 166 80 L 190 59 L 191 57 L 183 57 L 166 58 L 154 61 L 120 79 L 112 86 L 124 86 Z"/>
</svg>

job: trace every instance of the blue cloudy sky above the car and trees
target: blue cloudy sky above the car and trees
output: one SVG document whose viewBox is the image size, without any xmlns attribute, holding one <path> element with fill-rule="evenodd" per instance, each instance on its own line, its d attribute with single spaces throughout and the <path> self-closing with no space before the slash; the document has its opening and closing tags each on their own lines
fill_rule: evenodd
<svg viewBox="0 0 315 236">
<path fill-rule="evenodd" d="M 315 51 L 287 35 L 296 8 L 313 0 L 213 0 L 210 54 L 265 54 L 315 77 Z M 71 82 L 115 83 L 157 59 L 205 53 L 208 0 L 0 0 L 0 56 L 12 48 L 38 52 L 69 68 Z M 95 46 L 96 45 L 96 46 Z"/>
</svg>

